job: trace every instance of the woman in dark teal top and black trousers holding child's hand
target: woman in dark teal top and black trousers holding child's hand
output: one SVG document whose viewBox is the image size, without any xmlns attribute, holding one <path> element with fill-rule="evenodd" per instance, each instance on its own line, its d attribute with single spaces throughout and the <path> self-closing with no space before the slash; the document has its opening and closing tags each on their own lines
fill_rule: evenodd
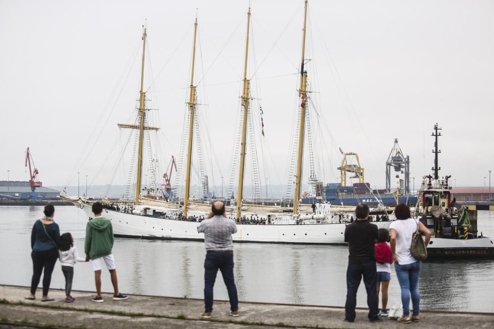
<svg viewBox="0 0 494 329">
<path fill-rule="evenodd" d="M 44 207 L 44 218 L 37 220 L 31 231 L 31 258 L 33 258 L 33 279 L 31 280 L 31 293 L 26 299 L 34 300 L 36 289 L 43 272 L 43 297 L 41 301 L 52 301 L 48 297 L 50 288 L 51 273 L 58 258 L 58 243 L 60 241 L 60 229 L 53 221 L 55 207 L 46 205 Z"/>
</svg>

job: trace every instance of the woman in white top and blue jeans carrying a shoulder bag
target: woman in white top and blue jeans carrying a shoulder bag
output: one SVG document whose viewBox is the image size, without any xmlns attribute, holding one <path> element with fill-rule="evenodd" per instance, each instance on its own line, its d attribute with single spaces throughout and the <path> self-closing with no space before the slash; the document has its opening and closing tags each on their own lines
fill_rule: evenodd
<svg viewBox="0 0 494 329">
<path fill-rule="evenodd" d="M 413 258 L 411 253 L 412 236 L 418 230 L 425 234 L 425 245 L 429 245 L 431 232 L 418 219 L 412 219 L 410 208 L 399 204 L 395 208 L 396 219 L 390 225 L 391 252 L 395 263 L 395 272 L 401 288 L 403 316 L 398 322 L 418 322 L 420 292 L 418 291 L 418 276 L 422 262 Z M 410 317 L 410 297 L 412 296 L 413 314 Z"/>
</svg>

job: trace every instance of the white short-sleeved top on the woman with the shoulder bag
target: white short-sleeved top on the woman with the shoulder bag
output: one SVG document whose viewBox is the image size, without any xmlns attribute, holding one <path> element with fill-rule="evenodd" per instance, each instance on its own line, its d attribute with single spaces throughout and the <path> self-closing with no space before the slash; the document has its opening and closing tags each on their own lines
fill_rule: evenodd
<svg viewBox="0 0 494 329">
<path fill-rule="evenodd" d="M 396 259 L 398 264 L 412 264 L 417 260 L 413 258 L 410 251 L 412 247 L 412 236 L 417 230 L 418 219 L 397 219 L 391 222 L 389 229 L 396 230 Z"/>
</svg>

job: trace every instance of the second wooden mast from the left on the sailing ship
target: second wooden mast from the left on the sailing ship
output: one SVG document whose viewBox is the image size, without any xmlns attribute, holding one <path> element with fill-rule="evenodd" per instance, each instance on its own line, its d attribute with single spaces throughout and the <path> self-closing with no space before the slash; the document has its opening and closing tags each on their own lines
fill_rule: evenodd
<svg viewBox="0 0 494 329">
<path fill-rule="evenodd" d="M 185 197 L 183 216 L 187 218 L 190 194 L 190 169 L 192 164 L 192 138 L 194 136 L 194 115 L 196 110 L 196 86 L 194 86 L 194 65 L 196 63 L 196 36 L 197 36 L 197 16 L 194 23 L 194 42 L 192 45 L 192 69 L 190 74 L 190 95 L 189 95 L 189 140 L 187 143 L 187 172 L 185 174 Z"/>
</svg>

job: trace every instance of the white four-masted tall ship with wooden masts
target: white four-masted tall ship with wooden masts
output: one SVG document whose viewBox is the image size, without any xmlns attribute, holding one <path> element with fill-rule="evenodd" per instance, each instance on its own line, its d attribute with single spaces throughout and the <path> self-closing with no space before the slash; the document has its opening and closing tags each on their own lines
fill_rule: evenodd
<svg viewBox="0 0 494 329">
<path fill-rule="evenodd" d="M 306 125 L 309 116 L 310 91 L 308 90 L 308 73 L 305 70 L 305 42 L 307 31 L 307 6 L 304 2 L 304 16 L 302 29 L 302 51 L 299 72 L 299 117 L 297 118 L 294 190 L 291 203 L 283 206 L 267 206 L 259 204 L 244 203 L 244 173 L 247 158 L 247 130 L 250 110 L 250 80 L 247 77 L 247 61 L 249 49 L 249 28 L 250 28 L 250 8 L 247 12 L 247 33 L 245 42 L 245 62 L 243 68 L 242 96 L 241 96 L 241 130 L 238 162 L 238 185 L 236 202 L 231 202 L 227 207 L 228 217 L 235 220 L 238 225 L 238 232 L 233 234 L 236 242 L 262 242 L 262 243 L 295 243 L 295 244 L 344 244 L 345 225 L 353 219 L 352 207 L 328 207 L 324 212 L 314 212 L 311 205 L 304 204 L 301 195 L 303 177 L 304 141 L 307 138 Z M 135 193 L 132 198 L 127 198 L 123 202 L 105 202 L 103 216 L 112 221 L 113 231 L 117 237 L 132 237 L 143 239 L 164 239 L 164 240 L 197 240 L 204 239 L 204 235 L 197 232 L 198 222 L 206 217 L 210 210 L 210 204 L 194 202 L 191 198 L 191 175 L 194 170 L 193 145 L 195 134 L 198 133 L 198 111 L 197 111 L 197 84 L 194 80 L 196 37 L 198 20 L 194 23 L 194 38 L 192 47 L 191 80 L 188 91 L 186 131 L 184 133 L 184 176 L 185 193 L 183 201 L 165 200 L 161 197 L 153 196 L 152 191 L 143 188 L 143 159 L 145 158 L 144 148 L 146 144 L 145 135 L 150 131 L 157 131 L 159 127 L 148 124 L 148 109 L 146 91 L 144 88 L 144 65 L 146 55 L 147 30 L 143 29 L 142 35 L 142 65 L 140 79 L 139 105 L 135 124 L 119 124 L 121 129 L 137 130 L 137 140 L 135 154 L 137 158 L 135 168 L 135 181 L 129 182 L 128 186 L 134 186 Z M 310 135 L 309 135 L 310 136 Z M 199 151 L 200 152 L 200 151 Z M 151 162 L 151 161 L 150 161 Z M 179 164 L 181 167 L 182 164 Z M 202 170 L 201 168 L 199 170 Z M 313 173 L 310 172 L 309 183 L 313 182 Z M 206 186 L 207 177 L 203 179 Z M 180 195 L 179 193 L 176 193 Z M 62 200 L 73 203 L 82 209 L 91 219 L 92 201 L 86 198 L 74 198 L 65 192 L 60 195 Z M 105 201 L 105 200 L 104 200 Z M 373 210 L 373 214 L 385 215 L 386 221 L 376 222 L 379 228 L 389 227 L 389 213 L 392 210 L 381 205 Z"/>
</svg>

